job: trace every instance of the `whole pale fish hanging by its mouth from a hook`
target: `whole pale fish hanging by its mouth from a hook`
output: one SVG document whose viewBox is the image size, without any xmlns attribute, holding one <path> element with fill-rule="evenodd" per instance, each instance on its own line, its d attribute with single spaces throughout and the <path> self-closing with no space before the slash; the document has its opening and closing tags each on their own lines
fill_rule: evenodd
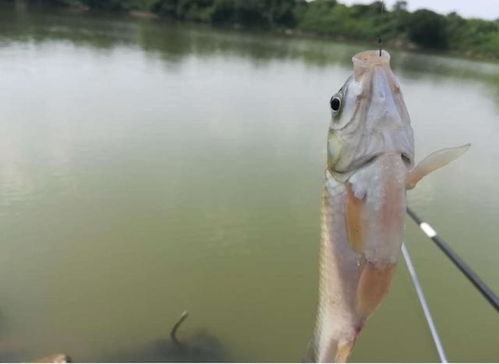
<svg viewBox="0 0 499 364">
<path fill-rule="evenodd" d="M 346 362 L 387 295 L 400 254 L 406 191 L 468 150 L 445 148 L 414 163 L 414 135 L 385 51 L 352 58 L 329 102 L 321 202 L 319 295 L 309 362 Z"/>
</svg>

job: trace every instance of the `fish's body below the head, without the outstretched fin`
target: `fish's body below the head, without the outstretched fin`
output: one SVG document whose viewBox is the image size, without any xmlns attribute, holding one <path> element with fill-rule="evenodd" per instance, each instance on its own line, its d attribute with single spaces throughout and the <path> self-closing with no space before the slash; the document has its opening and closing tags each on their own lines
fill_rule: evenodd
<svg viewBox="0 0 499 364">
<path fill-rule="evenodd" d="M 309 356 L 316 362 L 347 360 L 388 291 L 400 252 L 406 168 L 400 156 L 387 155 L 361 173 L 344 184 L 326 171 L 319 306 Z"/>
</svg>

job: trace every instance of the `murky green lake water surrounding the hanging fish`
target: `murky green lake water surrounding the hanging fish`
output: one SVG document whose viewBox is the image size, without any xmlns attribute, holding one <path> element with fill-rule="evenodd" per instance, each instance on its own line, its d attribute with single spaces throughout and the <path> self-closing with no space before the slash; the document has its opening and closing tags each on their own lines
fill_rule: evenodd
<svg viewBox="0 0 499 364">
<path fill-rule="evenodd" d="M 106 360 L 188 309 L 228 360 L 300 361 L 328 100 L 364 48 L 2 5 L 0 358 Z M 499 65 L 392 59 L 418 158 L 473 144 L 412 206 L 499 291 Z M 450 360 L 499 360 L 497 313 L 407 241 Z M 438 360 L 403 263 L 352 359 Z"/>
</svg>

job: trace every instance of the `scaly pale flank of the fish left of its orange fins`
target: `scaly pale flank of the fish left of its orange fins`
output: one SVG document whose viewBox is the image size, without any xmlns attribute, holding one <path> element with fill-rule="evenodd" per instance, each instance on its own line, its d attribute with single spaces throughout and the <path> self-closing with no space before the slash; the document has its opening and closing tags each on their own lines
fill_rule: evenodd
<svg viewBox="0 0 499 364">
<path fill-rule="evenodd" d="M 326 172 L 321 208 L 319 307 L 310 358 L 315 362 L 338 361 L 340 347 L 348 350 L 361 325 L 353 309 L 361 255 L 347 240 L 346 197 L 345 185 Z"/>
</svg>

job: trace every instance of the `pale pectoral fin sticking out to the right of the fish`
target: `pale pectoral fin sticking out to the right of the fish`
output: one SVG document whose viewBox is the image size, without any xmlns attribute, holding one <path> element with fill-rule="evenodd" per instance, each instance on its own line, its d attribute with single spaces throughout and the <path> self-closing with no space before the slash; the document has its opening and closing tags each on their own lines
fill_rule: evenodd
<svg viewBox="0 0 499 364">
<path fill-rule="evenodd" d="M 434 170 L 441 168 L 466 152 L 471 144 L 461 145 L 454 148 L 445 148 L 431 153 L 428 157 L 418 163 L 416 167 L 409 171 L 406 181 L 408 190 L 414 188 L 421 178 Z"/>
</svg>

